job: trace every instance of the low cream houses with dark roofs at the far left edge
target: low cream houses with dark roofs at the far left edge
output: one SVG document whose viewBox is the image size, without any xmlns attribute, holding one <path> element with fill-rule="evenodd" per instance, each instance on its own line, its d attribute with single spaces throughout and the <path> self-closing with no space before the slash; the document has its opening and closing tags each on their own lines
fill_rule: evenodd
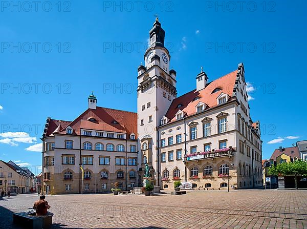
<svg viewBox="0 0 307 229">
<path fill-rule="evenodd" d="M 21 169 L 13 161 L 0 160 L 0 190 L 11 190 L 11 193 L 16 194 L 30 193 L 33 188 L 33 178 L 34 174 L 28 173 L 28 169 L 26 171 Z"/>
</svg>

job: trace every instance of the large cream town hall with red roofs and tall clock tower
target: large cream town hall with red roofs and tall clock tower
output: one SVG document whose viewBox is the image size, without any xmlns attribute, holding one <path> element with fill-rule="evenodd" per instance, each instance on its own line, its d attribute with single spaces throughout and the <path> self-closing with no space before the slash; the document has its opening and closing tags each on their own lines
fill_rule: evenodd
<svg viewBox="0 0 307 229">
<path fill-rule="evenodd" d="M 177 179 L 227 189 L 228 173 L 239 189 L 262 185 L 260 122 L 250 116 L 243 64 L 211 82 L 202 70 L 196 89 L 177 97 L 164 38 L 157 18 L 145 66 L 138 67 L 137 113 L 97 107 L 92 94 L 89 109 L 74 121 L 47 119 L 45 192 L 107 192 L 115 181 L 129 189 L 142 184 L 146 163 L 165 190 Z"/>
</svg>

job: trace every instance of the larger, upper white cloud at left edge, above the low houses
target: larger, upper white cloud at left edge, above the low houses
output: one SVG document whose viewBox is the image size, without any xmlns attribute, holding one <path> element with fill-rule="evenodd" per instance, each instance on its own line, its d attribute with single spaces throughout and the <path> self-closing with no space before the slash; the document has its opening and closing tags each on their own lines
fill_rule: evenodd
<svg viewBox="0 0 307 229">
<path fill-rule="evenodd" d="M 0 143 L 10 144 L 12 146 L 17 146 L 17 142 L 22 143 L 36 143 L 36 137 L 30 137 L 26 132 L 4 132 L 0 133 Z"/>
</svg>

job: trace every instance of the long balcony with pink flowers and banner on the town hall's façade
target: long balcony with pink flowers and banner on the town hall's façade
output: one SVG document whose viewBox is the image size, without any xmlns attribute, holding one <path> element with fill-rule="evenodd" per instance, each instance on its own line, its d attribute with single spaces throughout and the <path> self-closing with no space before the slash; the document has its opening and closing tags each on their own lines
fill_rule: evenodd
<svg viewBox="0 0 307 229">
<path fill-rule="evenodd" d="M 217 157 L 234 156 L 233 152 L 235 152 L 235 149 L 226 148 L 226 149 L 220 149 L 214 151 L 212 150 L 202 153 L 188 154 L 184 156 L 184 162 L 193 161 L 193 160 L 204 160 L 204 159 L 217 158 Z"/>
</svg>

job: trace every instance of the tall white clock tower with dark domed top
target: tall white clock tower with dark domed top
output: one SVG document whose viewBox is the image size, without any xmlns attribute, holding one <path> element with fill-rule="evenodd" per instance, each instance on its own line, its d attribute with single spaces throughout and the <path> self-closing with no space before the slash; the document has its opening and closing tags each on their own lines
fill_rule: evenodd
<svg viewBox="0 0 307 229">
<path fill-rule="evenodd" d="M 160 155 L 158 127 L 171 102 L 177 96 L 176 71 L 169 69 L 170 54 L 164 47 L 165 31 L 156 18 L 149 31 L 150 46 L 144 54 L 145 66 L 138 67 L 138 151 L 143 180 L 145 164 L 152 166 L 155 186 L 160 186 Z M 162 123 L 162 124 L 163 124 Z"/>
</svg>

